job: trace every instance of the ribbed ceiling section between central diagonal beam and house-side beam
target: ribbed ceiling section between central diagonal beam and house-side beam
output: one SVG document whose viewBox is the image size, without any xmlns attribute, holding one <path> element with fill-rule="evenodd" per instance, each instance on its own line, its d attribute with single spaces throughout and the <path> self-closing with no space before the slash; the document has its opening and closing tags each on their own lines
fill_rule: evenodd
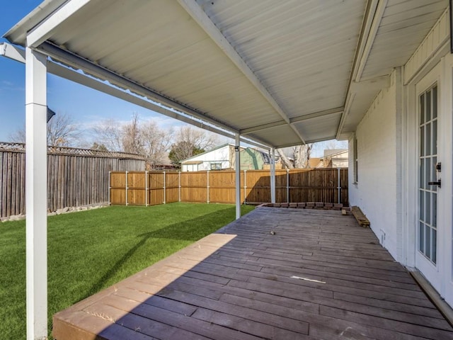
<svg viewBox="0 0 453 340">
<path fill-rule="evenodd" d="M 366 1 L 198 1 L 289 118 L 344 105 Z"/>
</svg>

